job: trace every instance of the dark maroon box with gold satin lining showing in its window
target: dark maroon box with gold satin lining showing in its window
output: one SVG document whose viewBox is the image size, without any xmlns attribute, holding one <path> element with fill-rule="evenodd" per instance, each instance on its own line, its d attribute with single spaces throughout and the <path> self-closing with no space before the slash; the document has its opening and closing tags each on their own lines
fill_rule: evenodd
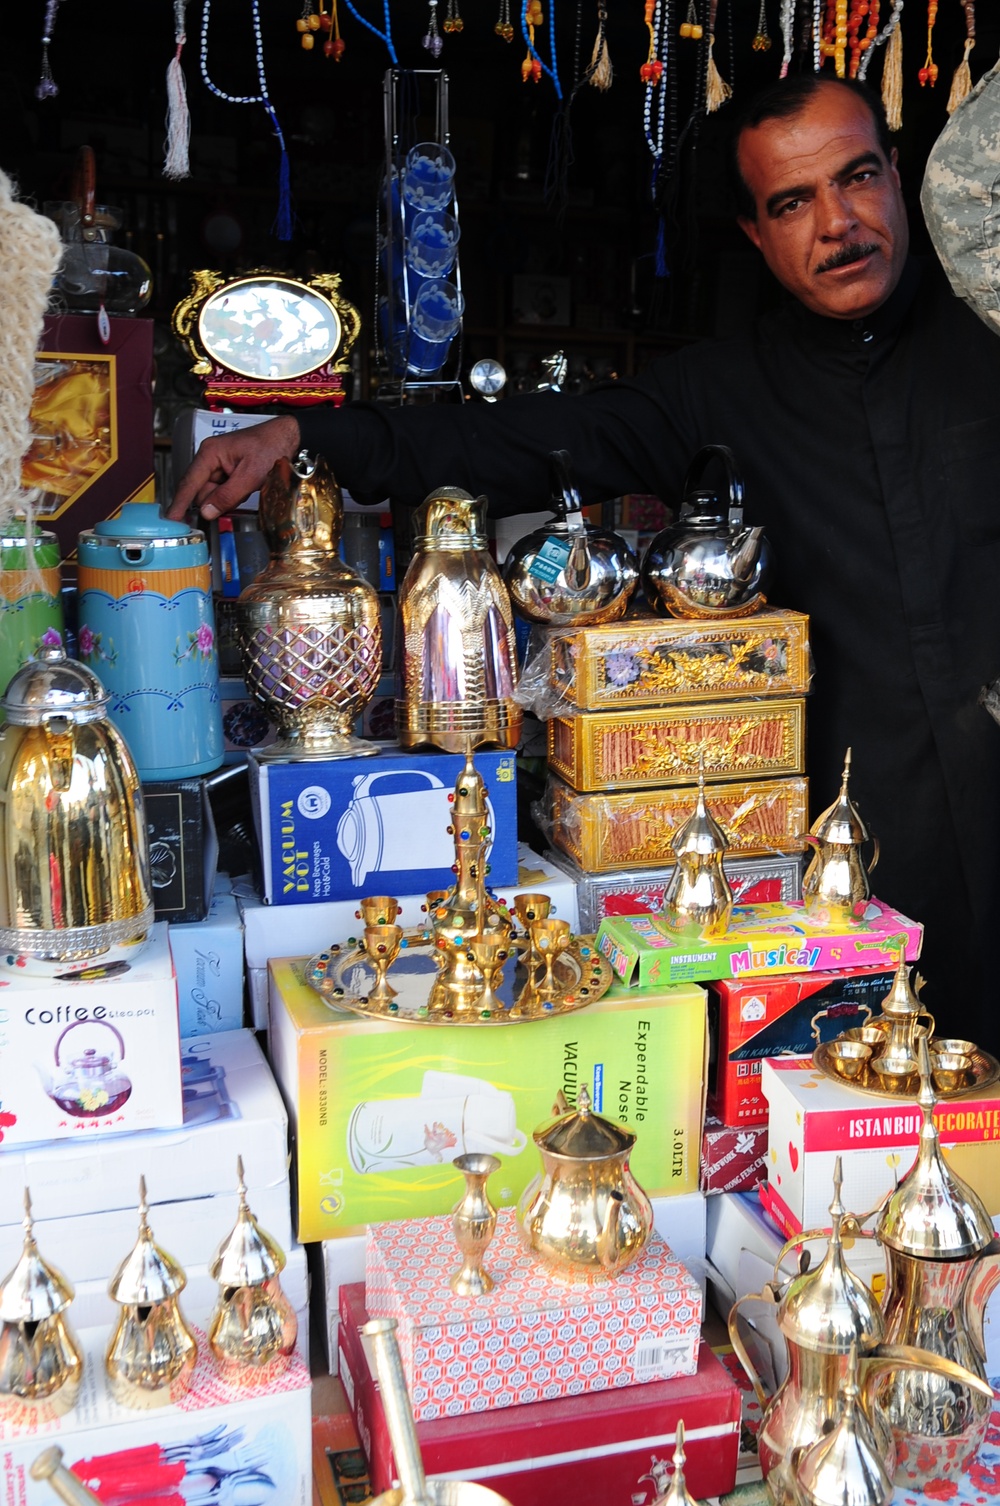
<svg viewBox="0 0 1000 1506">
<path fill-rule="evenodd" d="M 93 315 L 45 318 L 35 358 L 32 444 L 21 483 L 38 486 L 38 521 L 63 559 L 77 538 L 127 501 L 154 500 L 152 319 L 110 319 L 107 345 Z"/>
</svg>

